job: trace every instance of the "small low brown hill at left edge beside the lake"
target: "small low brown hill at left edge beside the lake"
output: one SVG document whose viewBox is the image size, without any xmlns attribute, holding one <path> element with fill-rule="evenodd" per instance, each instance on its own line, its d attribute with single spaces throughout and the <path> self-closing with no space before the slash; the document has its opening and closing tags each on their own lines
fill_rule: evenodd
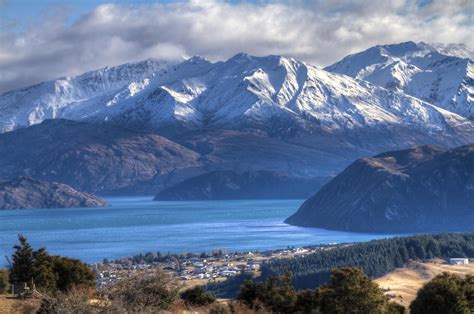
<svg viewBox="0 0 474 314">
<path fill-rule="evenodd" d="M 18 177 L 0 183 L 0 209 L 103 207 L 107 203 L 68 185 Z"/>
</svg>

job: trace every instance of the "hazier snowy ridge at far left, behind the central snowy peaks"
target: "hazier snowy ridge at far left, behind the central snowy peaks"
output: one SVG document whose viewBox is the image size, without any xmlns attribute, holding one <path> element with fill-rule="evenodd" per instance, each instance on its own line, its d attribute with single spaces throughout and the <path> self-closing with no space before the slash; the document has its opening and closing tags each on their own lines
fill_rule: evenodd
<svg viewBox="0 0 474 314">
<path fill-rule="evenodd" d="M 0 95 L 0 131 L 10 131 L 46 119 L 60 118 L 66 108 L 84 106 L 92 99 L 100 99 L 103 95 L 143 80 L 167 66 L 164 61 L 148 59 L 6 92 Z M 96 109 L 91 110 L 93 112 L 88 115 L 94 115 Z"/>
</svg>

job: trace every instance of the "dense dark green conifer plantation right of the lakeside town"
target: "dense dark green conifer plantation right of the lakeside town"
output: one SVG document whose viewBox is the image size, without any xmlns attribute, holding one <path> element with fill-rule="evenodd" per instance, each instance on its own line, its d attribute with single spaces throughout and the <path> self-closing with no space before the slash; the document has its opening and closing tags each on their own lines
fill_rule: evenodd
<svg viewBox="0 0 474 314">
<path fill-rule="evenodd" d="M 331 269 L 351 266 L 369 277 L 380 277 L 409 260 L 474 257 L 474 233 L 415 235 L 322 250 L 303 257 L 276 259 L 264 263 L 262 279 L 289 271 L 298 289 L 318 287 L 328 282 Z"/>
</svg>

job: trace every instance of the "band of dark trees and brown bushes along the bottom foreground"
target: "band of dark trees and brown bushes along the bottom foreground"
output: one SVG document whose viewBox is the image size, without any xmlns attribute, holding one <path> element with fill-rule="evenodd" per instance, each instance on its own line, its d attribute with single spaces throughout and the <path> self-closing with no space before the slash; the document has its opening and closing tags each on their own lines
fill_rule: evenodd
<svg viewBox="0 0 474 314">
<path fill-rule="evenodd" d="M 38 290 L 36 306 L 20 302 L 25 307 L 18 307 L 19 312 L 175 313 L 192 310 L 196 313 L 375 314 L 407 311 L 390 302 L 363 270 L 354 267 L 333 268 L 328 282 L 306 290 L 294 286 L 291 271 L 270 275 L 265 280 L 247 276 L 235 300 L 225 302 L 217 301 L 200 286 L 183 291 L 174 276 L 160 269 L 131 274 L 97 291 L 94 274 L 87 265 L 66 257 L 50 256 L 45 249 L 34 250 L 26 238 L 20 236 L 19 239 L 12 266 L 0 272 L 2 292 L 12 284 L 17 285 L 19 280 L 29 281 Z M 415 314 L 472 313 L 474 276 L 463 278 L 448 273 L 436 276 L 420 289 L 409 309 Z"/>
</svg>

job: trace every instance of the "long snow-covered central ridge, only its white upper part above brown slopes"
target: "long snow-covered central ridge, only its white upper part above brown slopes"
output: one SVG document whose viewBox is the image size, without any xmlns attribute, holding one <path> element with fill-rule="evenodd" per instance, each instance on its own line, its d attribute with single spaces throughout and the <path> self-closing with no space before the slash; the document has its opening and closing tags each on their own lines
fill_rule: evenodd
<svg viewBox="0 0 474 314">
<path fill-rule="evenodd" d="M 176 65 L 145 61 L 42 83 L 1 95 L 0 116 L 2 131 L 66 118 L 147 131 L 474 134 L 474 122 L 401 92 L 292 58 L 247 54 L 217 63 L 200 57 Z"/>
</svg>

